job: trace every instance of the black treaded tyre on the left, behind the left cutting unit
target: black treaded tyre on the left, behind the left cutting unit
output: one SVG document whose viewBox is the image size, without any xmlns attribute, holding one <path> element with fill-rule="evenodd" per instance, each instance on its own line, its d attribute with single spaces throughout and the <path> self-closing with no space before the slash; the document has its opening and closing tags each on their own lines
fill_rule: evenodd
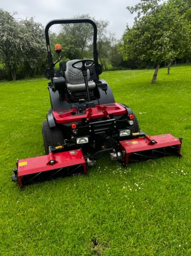
<svg viewBox="0 0 191 256">
<path fill-rule="evenodd" d="M 46 154 L 49 154 L 49 146 L 56 147 L 64 142 L 64 135 L 60 127 L 50 128 L 47 120 L 42 123 L 42 137 Z"/>
</svg>

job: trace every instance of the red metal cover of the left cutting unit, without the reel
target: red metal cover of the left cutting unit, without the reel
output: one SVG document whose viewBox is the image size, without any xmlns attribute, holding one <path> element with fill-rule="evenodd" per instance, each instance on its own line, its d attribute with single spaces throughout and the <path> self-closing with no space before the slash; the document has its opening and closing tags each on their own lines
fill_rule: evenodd
<svg viewBox="0 0 191 256">
<path fill-rule="evenodd" d="M 63 170 L 64 172 L 64 168 L 66 167 L 78 168 L 78 166 L 81 166 L 83 172 L 86 173 L 86 161 L 81 149 L 59 152 L 55 154 L 51 152 L 49 155 L 18 160 L 17 166 L 17 176 L 20 188 L 23 187 L 26 177 L 32 177 L 31 179 L 33 179 L 38 177 L 39 174 L 41 176 L 46 174 L 49 176 L 48 173 L 51 173 L 51 176 L 53 176 L 54 173 L 58 172 L 58 170 Z"/>
</svg>

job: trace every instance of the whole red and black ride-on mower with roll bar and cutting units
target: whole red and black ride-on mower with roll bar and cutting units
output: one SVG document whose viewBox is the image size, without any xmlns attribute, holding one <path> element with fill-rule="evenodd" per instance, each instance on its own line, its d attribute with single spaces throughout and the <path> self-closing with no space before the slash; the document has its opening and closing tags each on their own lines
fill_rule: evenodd
<svg viewBox="0 0 191 256">
<path fill-rule="evenodd" d="M 60 45 L 55 46 L 58 59 L 53 62 L 49 28 L 54 24 L 90 23 L 94 29 L 94 59 L 60 61 Z M 45 28 L 50 79 L 51 109 L 42 124 L 46 155 L 18 160 L 13 169 L 13 181 L 22 189 L 24 184 L 41 182 L 76 173 L 86 173 L 87 167 L 105 152 L 112 160 L 125 165 L 165 155 L 180 156 L 181 138 L 171 134 L 149 136 L 139 129 L 136 115 L 125 104 L 115 102 L 110 86 L 99 78 L 97 27 L 92 20 L 52 20 Z M 55 64 L 59 62 L 59 70 Z"/>
</svg>

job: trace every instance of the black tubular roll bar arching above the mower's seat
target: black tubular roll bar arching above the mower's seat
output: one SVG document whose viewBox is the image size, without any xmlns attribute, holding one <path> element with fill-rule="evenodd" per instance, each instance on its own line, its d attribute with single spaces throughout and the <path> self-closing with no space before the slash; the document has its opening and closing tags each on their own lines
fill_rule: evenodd
<svg viewBox="0 0 191 256">
<path fill-rule="evenodd" d="M 97 26 L 94 21 L 90 19 L 59 19 L 59 20 L 51 20 L 47 23 L 45 27 L 45 38 L 47 44 L 47 57 L 49 61 L 50 68 L 50 77 L 51 79 L 54 76 L 54 65 L 52 61 L 52 53 L 50 51 L 50 41 L 49 41 L 49 28 L 55 24 L 70 24 L 70 23 L 90 23 L 94 28 L 94 37 L 93 37 L 93 55 L 94 55 L 94 63 L 95 63 L 95 72 L 97 77 L 99 78 L 99 68 L 98 68 L 98 53 L 97 53 Z"/>
</svg>

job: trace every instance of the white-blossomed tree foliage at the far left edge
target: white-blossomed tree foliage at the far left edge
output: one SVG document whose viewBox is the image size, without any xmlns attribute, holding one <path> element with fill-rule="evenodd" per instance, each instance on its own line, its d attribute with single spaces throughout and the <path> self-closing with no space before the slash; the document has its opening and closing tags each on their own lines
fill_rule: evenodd
<svg viewBox="0 0 191 256">
<path fill-rule="evenodd" d="M 33 18 L 17 21 L 0 9 L 0 61 L 16 80 L 16 74 L 42 73 L 45 61 L 44 28 Z"/>
</svg>

